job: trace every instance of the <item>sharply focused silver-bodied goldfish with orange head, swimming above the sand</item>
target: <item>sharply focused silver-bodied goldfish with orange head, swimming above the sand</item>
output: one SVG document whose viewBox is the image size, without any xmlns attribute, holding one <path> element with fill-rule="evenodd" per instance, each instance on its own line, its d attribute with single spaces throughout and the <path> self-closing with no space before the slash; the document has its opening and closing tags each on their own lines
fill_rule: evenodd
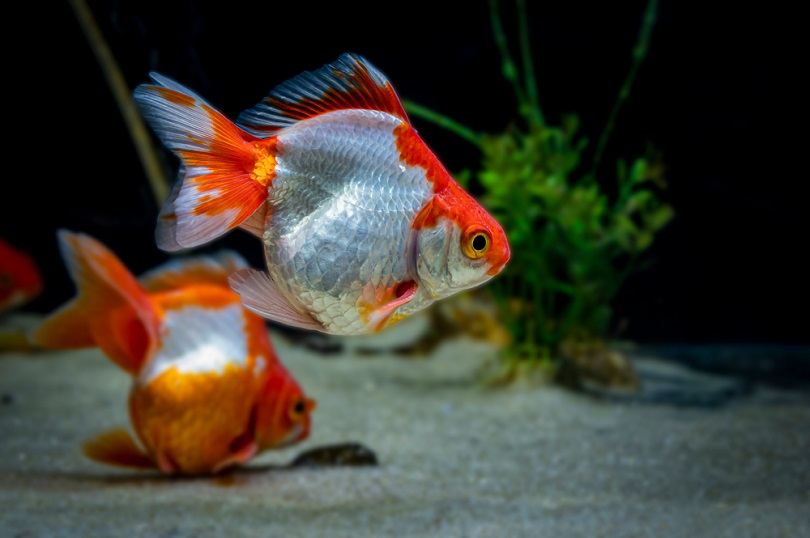
<svg viewBox="0 0 810 538">
<path fill-rule="evenodd" d="M 134 98 L 180 158 L 158 246 L 174 251 L 241 227 L 267 271 L 231 286 L 270 320 L 349 335 L 380 331 L 483 284 L 509 260 L 501 226 L 417 134 L 364 58 L 282 83 L 231 122 L 162 75 Z"/>
</svg>

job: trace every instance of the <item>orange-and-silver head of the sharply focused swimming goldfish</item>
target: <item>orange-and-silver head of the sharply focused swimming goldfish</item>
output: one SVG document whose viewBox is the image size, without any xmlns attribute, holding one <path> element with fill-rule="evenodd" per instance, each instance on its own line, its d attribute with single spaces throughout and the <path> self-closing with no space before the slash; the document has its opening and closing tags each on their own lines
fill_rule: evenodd
<svg viewBox="0 0 810 538">
<path fill-rule="evenodd" d="M 501 225 L 460 187 L 432 202 L 432 217 L 418 230 L 417 272 L 435 298 L 479 286 L 509 261 Z"/>
</svg>

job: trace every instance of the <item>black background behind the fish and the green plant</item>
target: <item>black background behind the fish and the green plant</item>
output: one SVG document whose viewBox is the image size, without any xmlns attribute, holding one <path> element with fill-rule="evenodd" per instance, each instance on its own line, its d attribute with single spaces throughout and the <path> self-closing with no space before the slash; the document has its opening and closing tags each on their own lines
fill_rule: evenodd
<svg viewBox="0 0 810 538">
<path fill-rule="evenodd" d="M 515 37 L 512 2 L 504 22 Z M 548 120 L 580 115 L 595 140 L 630 66 L 644 2 L 528 2 L 541 104 Z M 327 7 L 331 6 L 331 7 Z M 227 115 L 275 84 L 345 51 L 382 69 L 401 96 L 478 130 L 502 130 L 515 102 L 484 1 L 91 2 L 131 87 L 158 70 Z M 72 294 L 58 227 L 88 232 L 135 272 L 165 255 L 153 241 L 157 208 L 112 95 L 66 2 L 35 3 L 6 26 L 6 150 L 0 235 L 43 266 L 47 310 Z M 791 21 L 775 4 L 743 7 L 663 0 L 604 171 L 652 145 L 663 153 L 677 216 L 650 252 L 654 265 L 617 302 L 621 335 L 641 341 L 808 343 L 807 199 L 790 71 L 806 70 Z M 36 44 L 36 46 L 33 46 Z M 801 67 L 804 65 L 804 67 Z M 10 76 L 8 76 L 10 75 Z M 451 170 L 476 150 L 416 121 Z M 169 166 L 174 161 L 167 156 Z M 9 164 L 13 163 L 13 164 Z M 603 174 L 610 178 L 611 175 Z M 223 244 L 260 262 L 243 233 Z"/>
</svg>

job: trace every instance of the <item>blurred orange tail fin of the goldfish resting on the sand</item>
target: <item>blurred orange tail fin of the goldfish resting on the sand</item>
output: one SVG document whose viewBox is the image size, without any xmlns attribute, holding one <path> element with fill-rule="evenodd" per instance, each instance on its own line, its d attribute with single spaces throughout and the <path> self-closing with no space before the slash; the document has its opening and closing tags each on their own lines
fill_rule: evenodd
<svg viewBox="0 0 810 538">
<path fill-rule="evenodd" d="M 31 335 L 42 347 L 97 345 L 128 372 L 140 370 L 157 344 L 158 317 L 146 291 L 121 261 L 90 236 L 59 231 L 76 297 Z"/>
</svg>

